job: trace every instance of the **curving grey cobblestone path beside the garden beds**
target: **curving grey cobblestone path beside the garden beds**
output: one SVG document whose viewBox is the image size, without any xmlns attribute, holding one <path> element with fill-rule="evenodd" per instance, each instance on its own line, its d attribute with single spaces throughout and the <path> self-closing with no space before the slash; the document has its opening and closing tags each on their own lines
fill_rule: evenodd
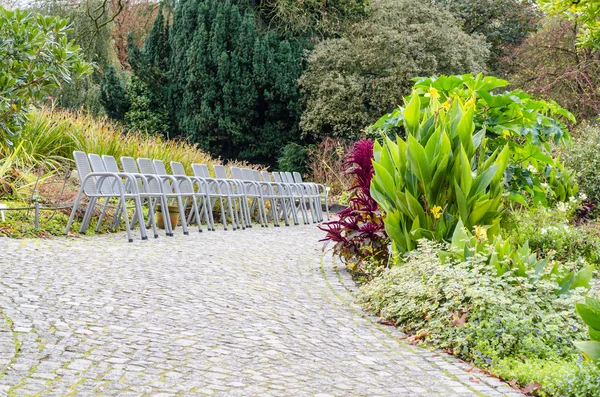
<svg viewBox="0 0 600 397">
<path fill-rule="evenodd" d="M 377 324 L 319 236 L 0 239 L 0 395 L 520 395 Z"/>
</svg>

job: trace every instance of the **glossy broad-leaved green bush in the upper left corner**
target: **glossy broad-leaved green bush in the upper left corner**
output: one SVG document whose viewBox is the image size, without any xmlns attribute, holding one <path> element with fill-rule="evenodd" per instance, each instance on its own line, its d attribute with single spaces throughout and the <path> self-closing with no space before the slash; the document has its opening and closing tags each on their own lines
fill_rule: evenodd
<svg viewBox="0 0 600 397">
<path fill-rule="evenodd" d="M 18 134 L 30 106 L 61 82 L 91 73 L 69 32 L 66 19 L 0 6 L 0 139 Z"/>
</svg>

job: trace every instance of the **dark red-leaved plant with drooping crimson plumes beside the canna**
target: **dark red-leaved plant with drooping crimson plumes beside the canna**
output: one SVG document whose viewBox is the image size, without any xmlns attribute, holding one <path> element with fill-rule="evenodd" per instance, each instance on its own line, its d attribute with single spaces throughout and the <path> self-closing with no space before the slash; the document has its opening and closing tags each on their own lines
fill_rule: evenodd
<svg viewBox="0 0 600 397">
<path fill-rule="evenodd" d="M 362 139 L 352 146 L 344 162 L 344 172 L 353 178 L 348 208 L 338 214 L 339 219 L 319 226 L 327 232 L 321 241 L 335 243 L 333 251 L 351 268 L 367 258 L 378 264 L 385 264 L 388 259 L 389 239 L 383 213 L 370 192 L 373 145 L 372 140 Z"/>
</svg>

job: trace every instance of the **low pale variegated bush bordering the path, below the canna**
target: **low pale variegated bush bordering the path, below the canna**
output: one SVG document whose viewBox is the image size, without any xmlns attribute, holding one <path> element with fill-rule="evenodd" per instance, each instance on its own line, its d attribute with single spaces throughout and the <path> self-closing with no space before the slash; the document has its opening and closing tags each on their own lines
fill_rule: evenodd
<svg viewBox="0 0 600 397">
<path fill-rule="evenodd" d="M 512 270 L 498 276 L 479 255 L 442 262 L 438 251 L 444 248 L 423 240 L 405 264 L 362 288 L 363 301 L 414 334 L 412 342 L 448 349 L 492 372 L 508 374 L 509 362 L 513 367 L 566 362 L 573 368 L 579 355 L 572 341 L 585 336 L 573 310 L 579 289 L 557 296 L 552 277 L 534 285 Z M 531 382 L 531 376 L 510 374 L 522 383 Z M 557 379 L 573 382 L 568 377 L 535 380 L 544 388 Z M 598 390 L 598 380 L 594 384 Z M 566 390 L 564 384 L 552 387 Z"/>
</svg>

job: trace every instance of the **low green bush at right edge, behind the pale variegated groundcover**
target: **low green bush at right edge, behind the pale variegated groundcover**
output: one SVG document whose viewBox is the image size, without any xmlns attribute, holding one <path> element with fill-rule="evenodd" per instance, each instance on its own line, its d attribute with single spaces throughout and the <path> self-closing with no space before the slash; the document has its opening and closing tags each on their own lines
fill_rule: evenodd
<svg viewBox="0 0 600 397">
<path fill-rule="evenodd" d="M 579 201 L 562 203 L 557 208 L 531 208 L 509 214 L 505 229 L 518 245 L 528 242 L 538 256 L 552 256 L 559 261 L 600 264 L 600 233 L 596 223 L 574 226 Z"/>
</svg>

